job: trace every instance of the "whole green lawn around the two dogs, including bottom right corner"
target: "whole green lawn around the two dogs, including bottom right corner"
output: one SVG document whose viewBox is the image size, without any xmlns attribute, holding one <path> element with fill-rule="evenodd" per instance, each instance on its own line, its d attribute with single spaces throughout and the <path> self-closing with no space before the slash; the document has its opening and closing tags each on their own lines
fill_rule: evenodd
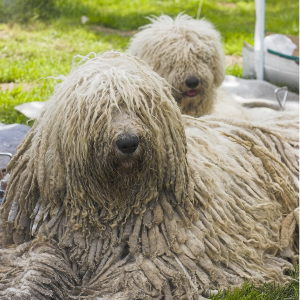
<svg viewBox="0 0 300 300">
<path fill-rule="evenodd" d="M 145 17 L 162 13 L 175 16 L 182 11 L 195 17 L 198 4 L 198 0 L 0 0 L 0 122 L 26 124 L 28 119 L 14 106 L 47 100 L 58 82 L 47 77 L 66 75 L 75 55 L 125 51 L 132 31 L 149 22 Z M 266 31 L 298 35 L 298 12 L 298 1 L 268 0 Z M 83 15 L 89 17 L 84 25 L 80 23 Z M 243 41 L 253 45 L 254 0 L 204 0 L 202 17 L 221 32 L 227 56 L 240 57 Z M 241 76 L 241 65 L 230 64 L 226 72 Z M 298 299 L 298 265 L 291 275 L 295 281 L 287 285 L 254 287 L 245 282 L 240 290 L 211 298 Z"/>
</svg>

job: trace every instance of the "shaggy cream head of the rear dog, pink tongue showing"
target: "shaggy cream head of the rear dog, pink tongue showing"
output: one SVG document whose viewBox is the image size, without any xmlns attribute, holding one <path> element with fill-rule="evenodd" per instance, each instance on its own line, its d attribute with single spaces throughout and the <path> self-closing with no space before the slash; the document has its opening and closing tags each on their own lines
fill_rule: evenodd
<svg viewBox="0 0 300 300">
<path fill-rule="evenodd" d="M 132 38 L 128 53 L 147 62 L 174 87 L 182 113 L 211 113 L 225 76 L 220 34 L 211 23 L 186 15 L 151 21 Z"/>
</svg>

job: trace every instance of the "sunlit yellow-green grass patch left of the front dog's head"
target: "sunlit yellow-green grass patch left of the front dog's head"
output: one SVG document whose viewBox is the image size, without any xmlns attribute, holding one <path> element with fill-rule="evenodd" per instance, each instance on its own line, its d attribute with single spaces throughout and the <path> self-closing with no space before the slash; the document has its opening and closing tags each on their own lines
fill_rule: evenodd
<svg viewBox="0 0 300 300">
<path fill-rule="evenodd" d="M 0 34 L 0 84 L 31 86 L 29 91 L 23 91 L 22 86 L 11 91 L 1 91 L 0 87 L 0 122 L 5 124 L 26 124 L 28 119 L 14 107 L 49 99 L 56 81 L 45 78 L 67 75 L 75 55 L 112 49 L 124 51 L 129 41 L 128 37 L 102 34 L 80 24 L 62 26 L 60 22 L 51 26 L 40 22 L 27 26 L 2 24 Z"/>
</svg>

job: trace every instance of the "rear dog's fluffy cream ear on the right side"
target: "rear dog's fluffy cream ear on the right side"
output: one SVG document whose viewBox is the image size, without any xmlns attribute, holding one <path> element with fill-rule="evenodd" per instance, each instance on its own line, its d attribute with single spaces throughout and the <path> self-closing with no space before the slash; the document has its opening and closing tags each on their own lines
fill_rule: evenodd
<svg viewBox="0 0 300 300">
<path fill-rule="evenodd" d="M 219 87 L 225 79 L 225 55 L 220 40 L 215 41 L 215 52 L 213 54 L 212 73 L 214 75 L 214 84 Z"/>
</svg>

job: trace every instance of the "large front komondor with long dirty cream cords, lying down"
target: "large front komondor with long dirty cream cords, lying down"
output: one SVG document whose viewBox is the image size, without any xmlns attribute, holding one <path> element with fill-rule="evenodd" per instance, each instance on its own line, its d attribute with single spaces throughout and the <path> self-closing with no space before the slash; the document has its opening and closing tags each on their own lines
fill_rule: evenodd
<svg viewBox="0 0 300 300">
<path fill-rule="evenodd" d="M 7 167 L 0 298 L 202 299 L 289 280 L 297 121 L 183 118 L 139 59 L 84 60 Z"/>
</svg>

